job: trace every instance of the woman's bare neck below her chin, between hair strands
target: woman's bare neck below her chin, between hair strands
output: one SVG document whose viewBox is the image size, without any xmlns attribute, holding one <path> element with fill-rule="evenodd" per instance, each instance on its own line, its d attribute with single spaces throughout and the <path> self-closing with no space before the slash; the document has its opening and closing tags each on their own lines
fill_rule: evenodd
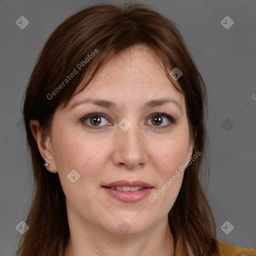
<svg viewBox="0 0 256 256">
<path fill-rule="evenodd" d="M 69 222 L 70 238 L 65 256 L 174 256 L 174 240 L 167 216 L 142 233 L 120 235 L 92 226 Z M 82 228 L 82 226 L 84 228 Z"/>
</svg>

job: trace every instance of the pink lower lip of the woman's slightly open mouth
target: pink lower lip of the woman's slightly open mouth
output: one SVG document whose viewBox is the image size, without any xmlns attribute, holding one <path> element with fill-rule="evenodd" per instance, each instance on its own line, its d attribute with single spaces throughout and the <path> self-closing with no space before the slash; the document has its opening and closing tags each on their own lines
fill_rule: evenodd
<svg viewBox="0 0 256 256">
<path fill-rule="evenodd" d="M 148 196 L 152 190 L 152 187 L 143 188 L 137 191 L 122 191 L 108 187 L 103 188 L 108 194 L 124 202 L 137 202 L 143 199 L 144 197 Z"/>
</svg>

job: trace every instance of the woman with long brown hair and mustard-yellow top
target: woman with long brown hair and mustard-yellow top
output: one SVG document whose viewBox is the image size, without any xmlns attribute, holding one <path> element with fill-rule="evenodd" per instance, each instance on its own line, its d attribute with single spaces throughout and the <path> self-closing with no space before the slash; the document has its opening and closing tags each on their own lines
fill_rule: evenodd
<svg viewBox="0 0 256 256">
<path fill-rule="evenodd" d="M 206 103 L 174 22 L 149 7 L 62 22 L 25 93 L 35 195 L 17 255 L 255 255 L 215 238 Z"/>
</svg>

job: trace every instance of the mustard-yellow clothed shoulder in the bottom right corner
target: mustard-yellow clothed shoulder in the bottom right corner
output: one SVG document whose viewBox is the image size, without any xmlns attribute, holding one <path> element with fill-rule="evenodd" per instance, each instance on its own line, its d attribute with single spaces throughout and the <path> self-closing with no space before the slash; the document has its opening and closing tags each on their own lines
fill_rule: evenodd
<svg viewBox="0 0 256 256">
<path fill-rule="evenodd" d="M 249 249 L 231 245 L 217 240 L 219 256 L 256 256 L 256 249 Z"/>
</svg>

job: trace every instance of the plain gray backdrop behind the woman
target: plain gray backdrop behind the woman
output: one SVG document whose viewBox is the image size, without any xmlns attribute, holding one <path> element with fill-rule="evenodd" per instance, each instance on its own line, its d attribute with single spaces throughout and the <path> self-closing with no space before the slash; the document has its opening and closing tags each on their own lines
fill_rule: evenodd
<svg viewBox="0 0 256 256">
<path fill-rule="evenodd" d="M 0 255 L 14 255 L 32 193 L 21 99 L 50 32 L 81 7 L 99 1 L 0 1 Z M 116 1 L 115 1 L 116 2 Z M 118 1 L 122 2 L 122 1 Z M 208 91 L 207 195 L 217 238 L 256 248 L 255 0 L 143 0 L 174 20 Z M 20 29 L 15 21 L 25 16 Z M 234 24 L 225 29 L 226 16 Z M 226 120 L 226 118 L 228 118 Z M 233 124 L 233 126 L 232 126 Z M 220 228 L 228 220 L 234 229 Z M 227 224 L 226 230 L 230 228 Z"/>
</svg>

